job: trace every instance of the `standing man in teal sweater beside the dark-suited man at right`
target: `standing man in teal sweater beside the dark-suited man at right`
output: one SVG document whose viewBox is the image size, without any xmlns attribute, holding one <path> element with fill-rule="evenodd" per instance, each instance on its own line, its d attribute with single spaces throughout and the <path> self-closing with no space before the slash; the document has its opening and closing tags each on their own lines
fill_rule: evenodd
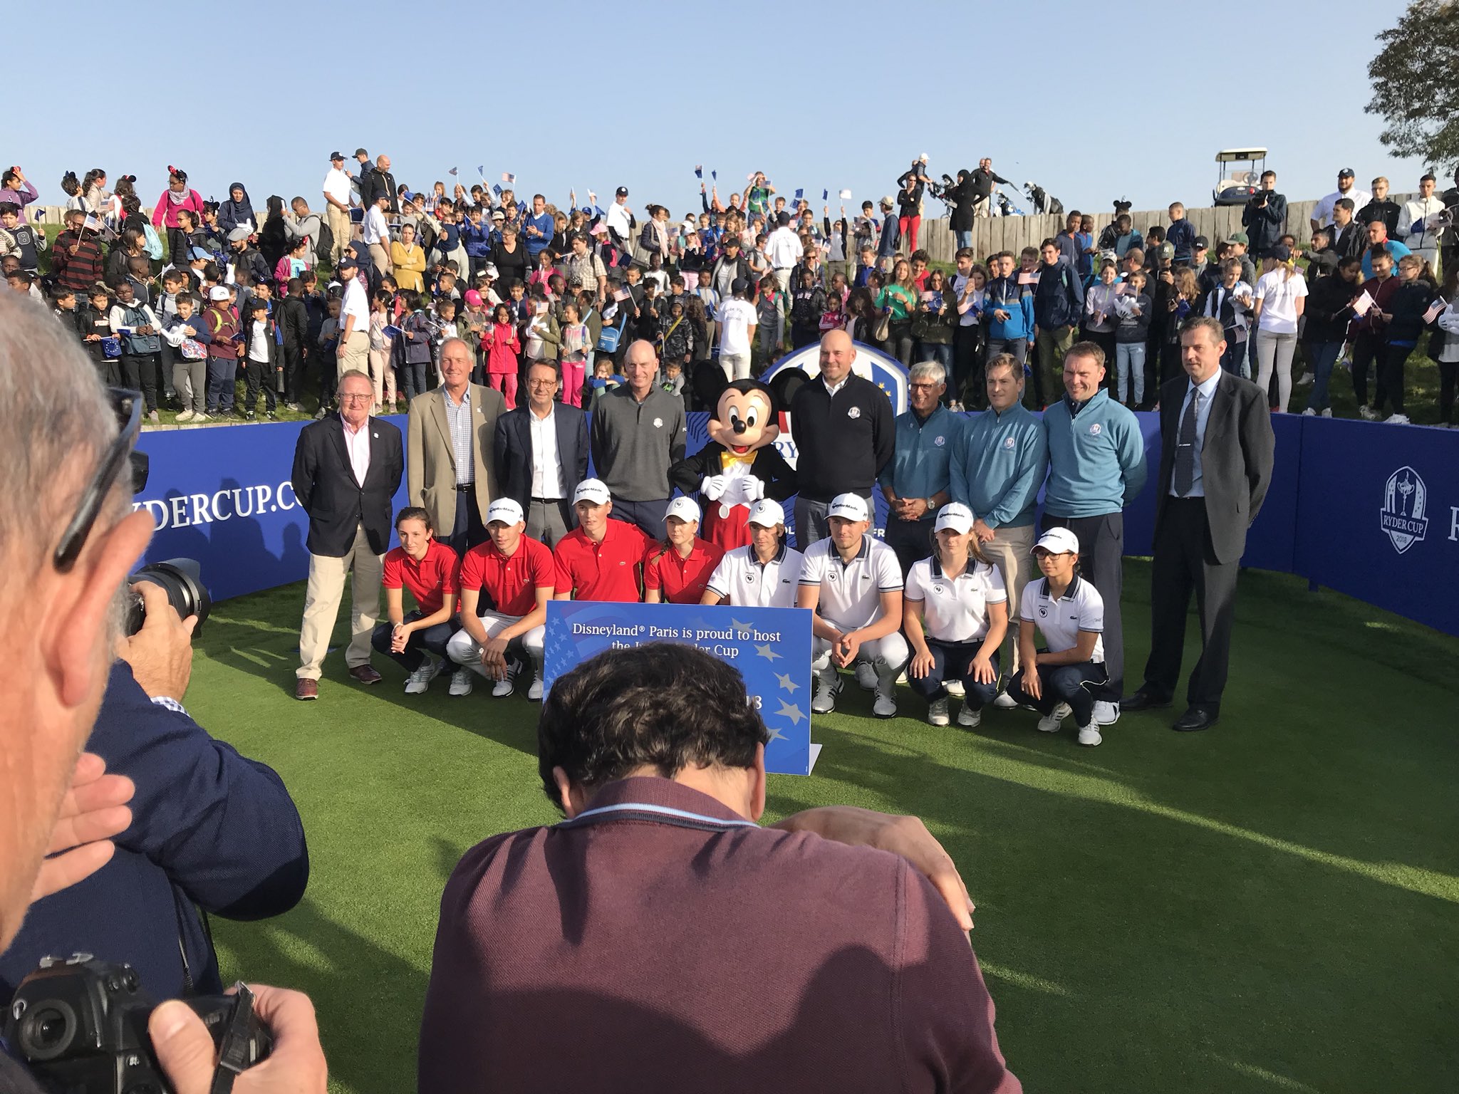
<svg viewBox="0 0 1459 1094">
<path fill-rule="evenodd" d="M 1049 486 L 1043 527 L 1069 528 L 1080 540 L 1080 575 L 1104 600 L 1104 668 L 1109 680 L 1094 694 L 1094 721 L 1119 719 L 1125 688 L 1121 632 L 1121 566 L 1125 506 L 1145 484 L 1145 439 L 1135 414 L 1104 388 L 1104 350 L 1077 341 L 1064 354 L 1064 398 L 1043 411 L 1049 442 Z"/>
</svg>

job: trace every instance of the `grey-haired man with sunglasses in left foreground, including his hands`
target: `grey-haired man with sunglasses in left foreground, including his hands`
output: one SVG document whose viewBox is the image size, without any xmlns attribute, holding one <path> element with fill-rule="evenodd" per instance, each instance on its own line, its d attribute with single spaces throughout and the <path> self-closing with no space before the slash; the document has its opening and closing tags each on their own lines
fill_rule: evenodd
<svg viewBox="0 0 1459 1094">
<path fill-rule="evenodd" d="M 142 554 L 152 518 L 130 511 L 127 449 L 142 426 L 136 397 L 109 404 L 74 337 L 42 308 L 0 295 L 0 945 L 32 899 L 74 884 L 111 856 L 125 827 L 125 779 L 77 763 L 102 700 L 118 630 L 117 591 Z M 118 436 L 118 411 L 125 429 Z M 73 773 L 76 775 L 73 780 Z M 109 798 L 117 791 L 121 802 Z M 125 810 L 121 811 L 125 814 Z M 45 859 L 48 853 L 66 855 Z M 38 884 L 39 882 L 39 884 Z M 325 1091 L 314 1008 L 299 992 L 254 989 L 273 1052 L 238 1075 L 235 1094 Z M 204 1094 L 213 1039 L 179 1002 L 153 1011 L 149 1030 L 178 1094 Z M 38 1091 L 0 1053 L 0 1090 Z"/>
</svg>

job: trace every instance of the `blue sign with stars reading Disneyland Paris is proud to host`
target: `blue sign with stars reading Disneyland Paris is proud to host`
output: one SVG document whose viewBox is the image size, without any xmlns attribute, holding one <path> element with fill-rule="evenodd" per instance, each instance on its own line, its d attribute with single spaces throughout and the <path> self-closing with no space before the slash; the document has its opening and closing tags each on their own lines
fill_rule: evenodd
<svg viewBox="0 0 1459 1094">
<path fill-rule="evenodd" d="M 543 677 L 553 680 L 605 649 L 649 642 L 699 646 L 732 665 L 760 710 L 770 744 L 765 769 L 810 775 L 820 745 L 811 744 L 811 613 L 807 608 L 706 608 L 697 604 L 547 604 Z"/>
</svg>

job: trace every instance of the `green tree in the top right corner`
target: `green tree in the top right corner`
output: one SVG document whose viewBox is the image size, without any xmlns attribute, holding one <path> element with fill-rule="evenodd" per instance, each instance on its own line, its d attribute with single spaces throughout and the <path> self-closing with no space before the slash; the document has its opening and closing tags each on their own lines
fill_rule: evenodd
<svg viewBox="0 0 1459 1094">
<path fill-rule="evenodd" d="M 1386 123 L 1379 140 L 1436 168 L 1459 165 L 1459 0 L 1412 0 L 1377 39 L 1367 112 Z"/>
</svg>

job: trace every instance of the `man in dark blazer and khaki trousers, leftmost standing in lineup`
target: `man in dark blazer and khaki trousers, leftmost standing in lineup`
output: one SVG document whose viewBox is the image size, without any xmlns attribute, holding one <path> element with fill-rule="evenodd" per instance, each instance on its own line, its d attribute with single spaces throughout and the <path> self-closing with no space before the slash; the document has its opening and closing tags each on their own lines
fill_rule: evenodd
<svg viewBox="0 0 1459 1094">
<path fill-rule="evenodd" d="M 340 413 L 299 432 L 293 449 L 293 493 L 309 515 L 309 588 L 299 632 L 295 699 L 320 697 L 320 674 L 330 633 L 350 592 L 350 645 L 344 662 L 362 684 L 379 683 L 369 664 L 371 633 L 379 616 L 381 559 L 390 546 L 391 499 L 400 489 L 406 457 L 400 430 L 371 417 L 375 388 L 357 369 L 340 376 Z"/>
</svg>

